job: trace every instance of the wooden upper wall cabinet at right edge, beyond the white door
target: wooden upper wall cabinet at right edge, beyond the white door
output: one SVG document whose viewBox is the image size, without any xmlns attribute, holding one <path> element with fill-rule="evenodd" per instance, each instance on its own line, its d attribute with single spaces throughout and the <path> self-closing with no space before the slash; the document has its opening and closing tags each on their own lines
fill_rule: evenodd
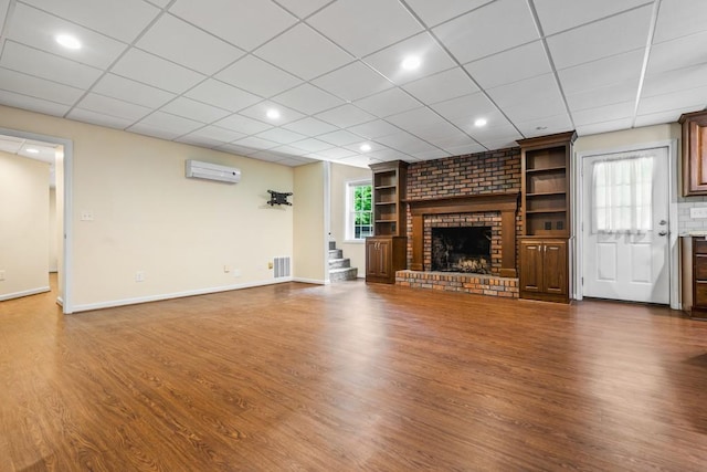
<svg viewBox="0 0 707 472">
<path fill-rule="evenodd" d="M 686 113 L 683 125 L 683 196 L 707 195 L 707 112 Z"/>
</svg>

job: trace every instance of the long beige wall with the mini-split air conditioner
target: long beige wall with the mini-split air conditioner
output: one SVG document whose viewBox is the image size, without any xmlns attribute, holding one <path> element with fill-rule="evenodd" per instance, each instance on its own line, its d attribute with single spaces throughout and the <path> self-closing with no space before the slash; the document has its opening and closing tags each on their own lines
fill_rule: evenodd
<svg viewBox="0 0 707 472">
<path fill-rule="evenodd" d="M 289 167 L 8 107 L 0 127 L 73 140 L 76 311 L 271 283 L 267 263 L 293 253 L 292 209 L 266 204 L 268 188 L 293 189 Z M 242 180 L 186 179 L 186 159 Z"/>
</svg>

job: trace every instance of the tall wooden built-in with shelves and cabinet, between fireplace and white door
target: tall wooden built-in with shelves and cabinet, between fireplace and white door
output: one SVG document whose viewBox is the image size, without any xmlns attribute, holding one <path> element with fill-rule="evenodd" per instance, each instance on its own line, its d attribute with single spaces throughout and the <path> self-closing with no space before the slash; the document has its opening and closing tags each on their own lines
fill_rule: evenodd
<svg viewBox="0 0 707 472">
<path fill-rule="evenodd" d="M 570 156 L 574 132 L 521 139 L 520 297 L 569 303 Z"/>
</svg>

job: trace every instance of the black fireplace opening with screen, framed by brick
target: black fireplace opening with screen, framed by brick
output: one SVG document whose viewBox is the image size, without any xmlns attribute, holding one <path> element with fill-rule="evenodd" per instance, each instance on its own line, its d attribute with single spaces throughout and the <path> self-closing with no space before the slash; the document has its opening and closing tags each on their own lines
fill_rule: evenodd
<svg viewBox="0 0 707 472">
<path fill-rule="evenodd" d="M 432 228 L 432 270 L 490 274 L 489 227 Z"/>
</svg>

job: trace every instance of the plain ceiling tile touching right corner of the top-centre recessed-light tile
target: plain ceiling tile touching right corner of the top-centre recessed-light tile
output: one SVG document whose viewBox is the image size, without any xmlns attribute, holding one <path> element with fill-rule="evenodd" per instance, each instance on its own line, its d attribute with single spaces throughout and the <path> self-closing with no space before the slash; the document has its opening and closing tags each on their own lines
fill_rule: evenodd
<svg viewBox="0 0 707 472">
<path fill-rule="evenodd" d="M 464 67 L 484 88 L 497 87 L 552 72 L 541 41 L 534 41 L 469 62 Z"/>
</svg>

